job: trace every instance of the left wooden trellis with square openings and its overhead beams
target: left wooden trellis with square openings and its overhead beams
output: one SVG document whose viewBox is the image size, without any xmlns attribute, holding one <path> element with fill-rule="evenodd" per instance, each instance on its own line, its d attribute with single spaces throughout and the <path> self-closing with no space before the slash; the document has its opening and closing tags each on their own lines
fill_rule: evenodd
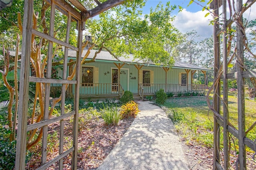
<svg viewBox="0 0 256 170">
<path fill-rule="evenodd" d="M 107 0 L 103 3 L 100 3 L 98 0 L 91 0 L 87 3 L 93 3 L 95 8 L 86 9 L 86 7 L 81 4 L 78 0 L 45 0 L 50 4 L 50 29 L 48 34 L 44 32 L 39 32 L 36 30 L 36 26 L 33 23 L 33 0 L 24 1 L 24 16 L 23 16 L 23 32 L 22 32 L 22 59 L 21 59 L 21 70 L 20 70 L 20 99 L 19 99 L 19 108 L 18 108 L 18 132 L 17 132 L 17 145 L 16 145 L 16 162 L 15 169 L 23 170 L 25 168 L 25 158 L 26 158 L 26 145 L 27 145 L 27 132 L 34 129 L 42 129 L 42 163 L 41 167 L 38 169 L 46 169 L 51 166 L 54 162 L 59 162 L 59 169 L 63 169 L 63 158 L 68 154 L 72 154 L 72 169 L 77 169 L 77 152 L 78 152 L 78 107 L 79 107 L 79 85 L 80 85 L 80 68 L 81 63 L 76 63 L 76 75 L 74 79 L 67 79 L 67 70 L 68 70 L 68 49 L 73 49 L 77 51 L 76 61 L 81 61 L 82 54 L 82 32 L 86 20 L 92 18 L 110 8 L 118 6 L 125 2 L 125 0 Z M 59 10 L 62 14 L 67 16 L 66 21 L 66 40 L 60 41 L 54 38 L 54 17 L 55 11 Z M 77 45 L 70 45 L 69 34 L 70 34 L 70 25 L 71 22 L 76 22 L 78 36 L 77 36 Z M 31 40 L 34 36 L 48 40 L 48 61 L 47 61 L 47 71 L 46 78 L 38 77 L 29 77 L 30 73 L 30 57 L 32 55 L 32 45 Z M 53 43 L 60 44 L 65 47 L 64 51 L 64 63 L 63 63 L 63 78 L 60 80 L 52 79 L 52 60 L 49 59 L 53 53 Z M 49 106 L 49 97 L 50 97 L 50 83 L 60 83 L 62 84 L 62 97 L 61 97 L 61 114 L 58 117 L 49 118 L 49 107 L 44 107 L 44 113 L 42 116 L 42 121 L 34 123 L 32 125 L 28 124 L 28 89 L 29 83 L 45 83 L 45 94 L 44 94 L 44 106 Z M 64 112 L 65 107 L 65 92 L 66 86 L 74 84 L 75 85 L 75 96 L 74 96 L 74 110 L 70 113 Z M 73 141 L 72 147 L 64 151 L 64 119 L 73 116 Z M 60 143 L 59 143 L 59 155 L 52 160 L 46 160 L 47 158 L 47 137 L 48 137 L 48 125 L 60 121 Z"/>
</svg>

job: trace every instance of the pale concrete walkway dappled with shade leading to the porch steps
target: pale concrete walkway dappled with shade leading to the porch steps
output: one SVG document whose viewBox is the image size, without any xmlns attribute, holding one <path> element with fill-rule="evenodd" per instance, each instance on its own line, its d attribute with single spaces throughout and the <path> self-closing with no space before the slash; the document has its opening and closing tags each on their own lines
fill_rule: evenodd
<svg viewBox="0 0 256 170">
<path fill-rule="evenodd" d="M 141 112 L 97 170 L 188 170 L 172 121 L 160 107 L 138 103 Z"/>
</svg>

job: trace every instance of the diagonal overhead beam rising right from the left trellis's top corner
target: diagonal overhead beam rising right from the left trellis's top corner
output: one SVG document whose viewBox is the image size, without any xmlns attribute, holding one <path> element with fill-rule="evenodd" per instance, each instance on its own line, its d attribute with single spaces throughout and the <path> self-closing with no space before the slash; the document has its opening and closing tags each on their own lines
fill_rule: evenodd
<svg viewBox="0 0 256 170">
<path fill-rule="evenodd" d="M 92 18 L 106 10 L 109 10 L 110 8 L 113 8 L 115 6 L 123 4 L 124 2 L 125 2 L 125 0 L 107 0 L 89 11 L 90 18 Z"/>
</svg>

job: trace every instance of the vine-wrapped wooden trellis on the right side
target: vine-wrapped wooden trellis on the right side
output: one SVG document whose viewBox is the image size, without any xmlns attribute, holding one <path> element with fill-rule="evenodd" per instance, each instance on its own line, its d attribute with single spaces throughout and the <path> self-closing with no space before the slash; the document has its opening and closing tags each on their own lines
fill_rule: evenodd
<svg viewBox="0 0 256 170">
<path fill-rule="evenodd" d="M 214 17 L 214 85 L 213 85 L 213 106 L 210 104 L 209 94 L 207 103 L 214 113 L 214 161 L 213 169 L 227 170 L 230 168 L 230 141 L 229 135 L 232 134 L 238 139 L 238 159 L 236 169 L 246 169 L 246 146 L 256 152 L 255 141 L 246 137 L 246 133 L 252 130 L 256 122 L 246 130 L 245 128 L 245 94 L 244 79 L 250 78 L 254 87 L 256 87 L 256 70 L 248 70 L 244 65 L 244 50 L 246 45 L 245 27 L 243 24 L 243 13 L 248 10 L 256 0 L 248 0 L 243 4 L 242 0 L 236 0 L 231 4 L 230 0 L 213 0 L 210 8 L 213 10 Z M 219 16 L 219 10 L 222 8 L 222 16 Z M 230 16 L 227 15 L 229 8 Z M 236 9 L 234 9 L 236 8 Z M 221 19 L 220 19 L 221 18 Z M 229 56 L 230 42 L 232 37 L 228 39 L 228 30 L 231 30 L 231 24 L 236 25 L 236 47 L 235 55 Z M 222 63 L 220 61 L 220 35 L 222 34 Z M 228 39 L 228 40 L 227 40 Z M 255 54 L 252 54 L 255 55 Z M 236 57 L 236 73 L 228 73 L 228 64 Z M 236 78 L 237 80 L 237 100 L 238 100 L 238 125 L 231 125 L 228 113 L 228 79 Z M 223 98 L 220 93 L 220 79 L 223 79 Z M 212 89 L 209 90 L 211 92 Z M 221 101 L 223 101 L 223 114 L 221 114 Z M 220 127 L 223 128 L 223 157 L 220 154 Z M 235 127 L 238 127 L 235 128 Z M 221 161 L 222 160 L 222 161 Z M 221 163 L 223 162 L 223 164 Z"/>
</svg>

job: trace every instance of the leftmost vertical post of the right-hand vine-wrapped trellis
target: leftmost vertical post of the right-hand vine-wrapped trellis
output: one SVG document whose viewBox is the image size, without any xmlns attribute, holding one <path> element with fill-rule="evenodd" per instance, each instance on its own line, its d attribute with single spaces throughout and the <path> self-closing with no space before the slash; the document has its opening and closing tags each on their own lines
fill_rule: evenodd
<svg viewBox="0 0 256 170">
<path fill-rule="evenodd" d="M 216 17 L 219 16 L 219 0 L 214 0 L 213 13 Z M 214 95 L 213 95 L 213 107 L 214 110 L 220 113 L 220 81 L 216 80 L 217 73 L 220 68 L 220 37 L 217 35 L 220 26 L 218 24 L 219 19 L 214 22 L 213 28 L 213 40 L 214 40 Z M 217 123 L 216 115 L 214 115 L 214 151 L 213 151 L 213 169 L 218 169 L 217 166 L 220 163 L 220 125 Z"/>
</svg>

